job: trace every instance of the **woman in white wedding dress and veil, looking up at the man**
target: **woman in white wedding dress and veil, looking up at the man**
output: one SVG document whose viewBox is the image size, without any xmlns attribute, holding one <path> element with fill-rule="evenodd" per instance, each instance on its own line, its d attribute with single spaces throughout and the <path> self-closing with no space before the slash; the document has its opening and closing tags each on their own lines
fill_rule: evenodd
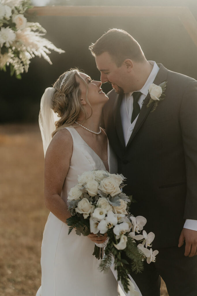
<svg viewBox="0 0 197 296">
<path fill-rule="evenodd" d="M 112 271 L 100 272 L 100 260 L 92 255 L 95 243 L 103 243 L 106 235 L 79 237 L 75 231 L 68 235 L 65 223 L 70 217 L 67 196 L 78 175 L 86 170 L 109 170 L 108 139 L 99 126 L 108 100 L 101 84 L 78 70 L 69 70 L 41 99 L 44 197 L 50 214 L 43 233 L 42 280 L 37 296 L 120 295 Z"/>
</svg>

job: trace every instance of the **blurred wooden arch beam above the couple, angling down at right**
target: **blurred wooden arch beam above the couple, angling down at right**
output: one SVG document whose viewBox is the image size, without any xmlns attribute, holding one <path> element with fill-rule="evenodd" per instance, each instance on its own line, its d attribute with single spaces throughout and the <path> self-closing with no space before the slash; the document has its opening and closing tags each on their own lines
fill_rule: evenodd
<svg viewBox="0 0 197 296">
<path fill-rule="evenodd" d="M 39 16 L 129 16 L 129 17 L 177 17 L 182 22 L 197 47 L 197 21 L 188 7 L 161 6 L 43 6 L 33 7 L 29 13 Z"/>
</svg>

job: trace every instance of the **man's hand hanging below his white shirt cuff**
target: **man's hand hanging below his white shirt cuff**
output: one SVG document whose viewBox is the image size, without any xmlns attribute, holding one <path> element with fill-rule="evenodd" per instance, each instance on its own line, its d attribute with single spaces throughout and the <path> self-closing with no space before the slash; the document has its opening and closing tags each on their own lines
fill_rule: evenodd
<svg viewBox="0 0 197 296">
<path fill-rule="evenodd" d="M 197 255 L 197 231 L 183 228 L 179 237 L 178 247 L 183 246 L 185 240 L 185 256 Z"/>
</svg>

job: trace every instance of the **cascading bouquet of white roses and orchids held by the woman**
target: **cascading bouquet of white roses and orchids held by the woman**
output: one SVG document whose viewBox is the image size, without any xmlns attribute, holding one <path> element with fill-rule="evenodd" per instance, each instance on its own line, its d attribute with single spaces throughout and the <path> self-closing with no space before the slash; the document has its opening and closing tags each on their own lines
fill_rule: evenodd
<svg viewBox="0 0 197 296">
<path fill-rule="evenodd" d="M 71 217 L 66 220 L 69 234 L 75 228 L 76 234 L 90 233 L 98 236 L 107 233 L 105 255 L 100 263 L 100 271 L 108 271 L 114 263 L 118 281 L 129 291 L 131 271 L 143 270 L 143 261 L 155 262 L 158 251 L 153 251 L 154 233 L 143 230 L 146 218 L 133 217 L 129 213 L 131 200 L 121 192 L 125 178 L 104 170 L 84 172 L 78 177 L 78 184 L 71 188 L 68 208 Z M 139 234 L 143 230 L 142 234 Z M 102 258 L 101 248 L 95 246 L 93 255 Z"/>
</svg>

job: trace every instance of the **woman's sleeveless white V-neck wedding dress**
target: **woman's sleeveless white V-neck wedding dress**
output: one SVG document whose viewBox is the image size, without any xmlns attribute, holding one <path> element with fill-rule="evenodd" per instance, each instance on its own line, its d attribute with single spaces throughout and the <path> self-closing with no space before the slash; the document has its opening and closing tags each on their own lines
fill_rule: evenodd
<svg viewBox="0 0 197 296">
<path fill-rule="evenodd" d="M 65 202 L 78 175 L 87 170 L 105 170 L 103 161 L 75 128 L 66 129 L 73 139 L 73 154 L 61 192 Z M 108 144 L 108 160 L 110 157 Z M 66 223 L 49 214 L 41 247 L 41 287 L 36 296 L 120 295 L 112 271 L 104 274 L 98 270 L 100 260 L 92 255 L 95 244 L 88 237 L 76 235 L 75 230 L 68 235 L 68 230 Z"/>
</svg>

